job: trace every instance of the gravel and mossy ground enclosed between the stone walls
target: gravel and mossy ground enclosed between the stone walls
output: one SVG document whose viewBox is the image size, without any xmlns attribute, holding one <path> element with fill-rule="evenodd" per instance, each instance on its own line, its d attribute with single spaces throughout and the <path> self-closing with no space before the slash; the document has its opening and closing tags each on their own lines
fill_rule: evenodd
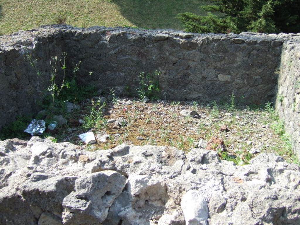
<svg viewBox="0 0 300 225">
<path fill-rule="evenodd" d="M 294 159 L 290 146 L 276 134 L 268 110 L 236 109 L 234 105 L 227 105 L 225 109 L 216 104 L 201 105 L 198 102 L 143 102 L 113 97 L 112 101 L 107 101 L 97 125 L 84 128 L 79 120 L 81 123 L 86 120 L 85 116 L 97 99 L 106 100 L 103 97 L 87 99 L 80 105 L 80 110 L 68 116 L 68 124 L 58 127 L 51 136 L 57 141 L 83 144 L 78 135 L 90 130 L 97 140 L 96 144 L 87 145 L 90 150 L 111 149 L 126 143 L 175 146 L 186 152 L 206 146 L 201 146 L 201 143 L 218 139 L 226 146 L 226 156 L 242 158 L 243 162 L 260 152 L 275 152 L 287 161 Z M 211 148 L 217 150 L 216 147 Z"/>
</svg>

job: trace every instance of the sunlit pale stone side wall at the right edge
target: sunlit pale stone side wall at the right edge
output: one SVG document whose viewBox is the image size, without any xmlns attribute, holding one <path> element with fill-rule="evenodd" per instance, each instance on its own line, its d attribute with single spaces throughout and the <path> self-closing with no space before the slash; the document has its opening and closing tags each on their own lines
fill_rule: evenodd
<svg viewBox="0 0 300 225">
<path fill-rule="evenodd" d="M 291 136 L 294 152 L 300 156 L 300 44 L 283 44 L 278 78 L 276 111 Z"/>
</svg>

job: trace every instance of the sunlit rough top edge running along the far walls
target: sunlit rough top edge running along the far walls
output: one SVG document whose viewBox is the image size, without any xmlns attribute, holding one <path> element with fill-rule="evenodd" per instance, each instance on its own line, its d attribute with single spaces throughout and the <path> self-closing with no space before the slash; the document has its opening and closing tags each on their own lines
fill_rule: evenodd
<svg viewBox="0 0 300 225">
<path fill-rule="evenodd" d="M 187 41 L 202 41 L 204 39 L 209 39 L 211 41 L 219 40 L 232 40 L 235 44 L 243 44 L 249 42 L 257 42 L 257 44 L 266 45 L 265 41 L 272 42 L 277 41 L 275 46 L 280 46 L 283 42 L 292 41 L 300 42 L 300 33 L 298 34 L 262 34 L 253 32 L 242 32 L 240 34 L 197 34 L 188 33 L 183 31 L 176 31 L 171 29 L 156 29 L 156 30 L 144 30 L 144 29 L 134 29 L 134 28 L 122 28 L 122 27 L 104 27 L 104 26 L 94 26 L 90 28 L 78 28 L 69 25 L 46 25 L 41 26 L 37 29 L 32 29 L 28 31 L 19 31 L 11 35 L 0 36 L 0 52 L 9 51 L 11 49 L 23 49 L 24 46 L 32 48 L 38 41 L 38 38 L 49 38 L 52 36 L 61 35 L 87 35 L 87 34 L 102 34 L 102 35 L 122 35 L 127 33 L 128 35 L 139 35 L 145 38 L 149 38 L 152 41 L 163 41 L 168 38 L 187 40 Z M 273 45 L 274 46 L 274 45 Z"/>
</svg>

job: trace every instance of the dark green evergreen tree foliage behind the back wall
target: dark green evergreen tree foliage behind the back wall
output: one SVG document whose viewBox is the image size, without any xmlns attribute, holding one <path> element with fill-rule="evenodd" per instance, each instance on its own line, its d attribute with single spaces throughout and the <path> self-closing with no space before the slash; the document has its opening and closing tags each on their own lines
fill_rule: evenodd
<svg viewBox="0 0 300 225">
<path fill-rule="evenodd" d="M 297 33 L 300 31 L 300 2 L 297 0 L 211 0 L 201 9 L 207 15 L 179 14 L 187 32 Z"/>
</svg>

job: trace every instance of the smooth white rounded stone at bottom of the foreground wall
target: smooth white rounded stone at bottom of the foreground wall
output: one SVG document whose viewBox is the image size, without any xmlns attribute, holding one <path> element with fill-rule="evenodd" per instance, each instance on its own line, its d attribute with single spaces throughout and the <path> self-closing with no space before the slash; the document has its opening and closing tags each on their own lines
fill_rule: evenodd
<svg viewBox="0 0 300 225">
<path fill-rule="evenodd" d="M 186 225 L 207 225 L 208 206 L 199 191 L 189 190 L 180 202 Z"/>
</svg>

